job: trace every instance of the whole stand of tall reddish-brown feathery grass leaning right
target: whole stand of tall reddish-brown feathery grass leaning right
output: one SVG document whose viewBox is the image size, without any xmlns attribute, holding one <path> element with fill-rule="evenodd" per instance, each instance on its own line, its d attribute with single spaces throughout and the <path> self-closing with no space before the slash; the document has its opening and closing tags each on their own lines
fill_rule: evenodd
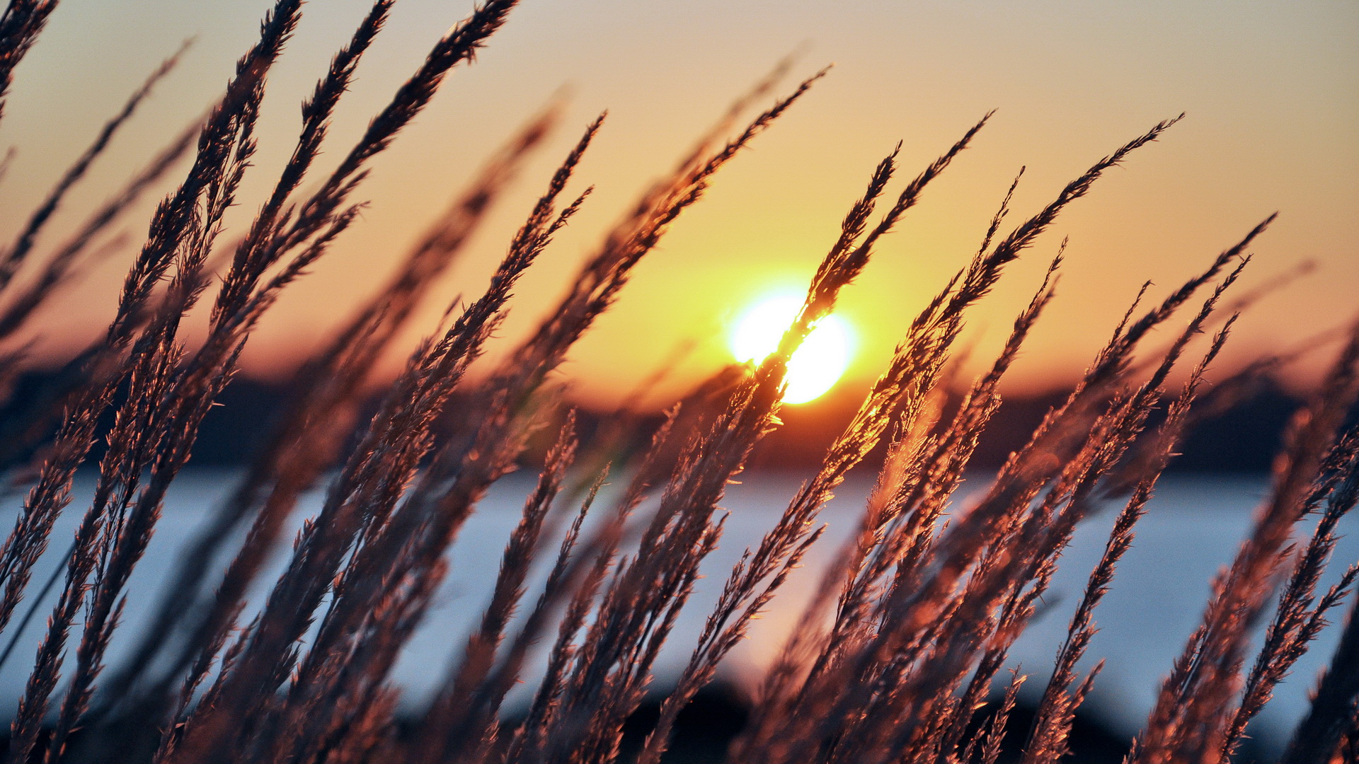
<svg viewBox="0 0 1359 764">
<path fill-rule="evenodd" d="M 56 0 L 11 0 L 0 16 L 0 97 L 56 5 Z M 726 518 L 719 503 L 726 485 L 761 436 L 780 426 L 790 356 L 836 307 L 882 237 L 965 152 L 989 114 L 943 147 L 896 196 L 889 189 L 900 174 L 897 152 L 872 169 L 829 243 L 802 310 L 768 359 L 701 386 L 670 411 L 659 430 L 637 430 L 643 419 L 625 404 L 610 427 L 582 439 L 573 415 L 563 415 L 553 371 L 718 171 L 794 107 L 824 72 L 775 99 L 743 128 L 739 120 L 768 97 L 786 67 L 734 105 L 607 232 L 537 330 L 484 378 L 472 378 L 469 367 L 503 322 L 520 276 L 587 200 L 590 189 L 569 194 L 568 189 L 601 131 L 601 116 L 548 181 L 487 290 L 450 305 L 444 325 L 410 353 L 395 379 L 383 383 L 376 405 L 368 405 L 379 356 L 523 159 L 560 121 L 556 109 L 544 111 L 453 200 L 394 277 L 300 366 L 265 447 L 207 530 L 189 542 L 148 628 L 136 635 L 126 659 L 106 665 L 129 578 L 155 533 L 167 489 L 188 462 L 204 416 L 231 381 L 251 330 L 280 291 L 303 279 L 356 222 L 359 192 L 374 158 L 400 137 L 455 67 L 473 61 L 515 5 L 488 0 L 457 23 L 342 152 L 337 169 L 308 184 L 317 181 L 313 164 L 326 144 L 336 105 L 391 8 L 391 0 L 376 0 L 303 105 L 295 148 L 270 193 L 239 239 L 223 247 L 223 216 L 245 201 L 241 181 L 255 151 L 270 71 L 302 15 L 300 1 L 277 0 L 258 42 L 241 57 L 201 124 L 173 140 L 73 228 L 67 243 L 42 251 L 38 234 L 175 64 L 175 54 L 133 92 L 0 253 L 0 337 L 8 337 L 101 257 L 106 250 L 95 243 L 107 228 L 181 156 L 192 155 L 183 179 L 155 209 L 107 330 L 68 364 L 57 393 L 26 412 L 22 427 L 11 428 L 16 442 L 5 446 L 22 453 L 29 440 L 41 445 L 33 464 L 15 473 L 29 491 L 0 546 L 0 632 L 7 640 L 27 623 L 16 620 L 26 605 L 30 613 L 48 606 L 31 591 L 38 559 L 58 549 L 64 561 L 57 600 L 12 716 L 7 761 L 620 759 L 625 722 L 652 689 L 656 657 L 673 642 L 700 570 L 722 541 Z M 1123 508 L 1057 646 L 1019 756 L 1026 764 L 1051 764 L 1068 753 L 1078 708 L 1099 672 L 1099 665 L 1080 669 L 1097 606 L 1116 582 L 1117 564 L 1158 479 L 1203 411 L 1205 377 L 1229 340 L 1234 311 L 1254 299 L 1241 298 L 1223 315 L 1224 295 L 1272 216 L 1207 258 L 1197 276 L 1161 303 L 1143 307 L 1139 294 L 1070 397 L 947 523 L 945 511 L 955 503 L 962 474 L 999 405 L 999 385 L 1055 299 L 1064 243 L 989 368 L 966 386 L 955 409 L 946 409 L 942 400 L 973 306 L 1011 262 L 1030 257 L 1040 237 L 1104 173 L 1161 139 L 1176 121 L 1157 124 L 1094 162 L 1049 204 L 1007 230 L 1015 186 L 1010 188 L 970 262 L 911 324 L 821 468 L 727 575 L 636 761 L 655 764 L 665 757 L 681 711 L 712 682 L 750 623 L 819 542 L 822 529 L 815 522 L 832 493 L 883 445 L 887 455 L 858 529 L 822 572 L 760 682 L 749 723 L 727 759 L 998 761 L 1025 681 L 1018 673 L 1006 680 L 1008 651 L 1036 616 L 1076 526 L 1097 506 L 1117 500 Z M 315 190 L 303 193 L 304 185 Z M 216 257 L 219 251 L 226 256 Z M 15 279 L 23 273 L 30 277 Z M 181 324 L 205 296 L 207 336 L 190 345 Z M 1177 318 L 1181 314 L 1186 318 Z M 1148 348 L 1151 332 L 1163 325 L 1177 326 L 1173 341 Z M 1205 347 L 1196 344 L 1201 334 L 1210 334 Z M 1277 363 L 1275 358 L 1250 364 L 1211 394 L 1231 398 Z M 1171 371 L 1180 366 L 1188 366 L 1188 375 L 1171 387 Z M 1132 741 L 1131 764 L 1233 760 L 1250 719 L 1344 602 L 1355 568 L 1326 591 L 1318 585 L 1337 523 L 1359 500 L 1359 432 L 1345 424 L 1359 394 L 1356 366 L 1359 330 L 1349 330 L 1329 374 L 1291 426 L 1252 534 L 1214 583 L 1200 628 L 1166 667 L 1155 707 Z M 20 368 L 22 348 L 7 352 L 3 374 L 12 378 Z M 1157 415 L 1162 401 L 1169 402 Z M 455 646 L 428 706 L 398 718 L 391 669 L 447 576 L 444 553 L 488 488 L 520 459 L 530 436 L 554 420 L 564 424 L 508 538 L 478 625 Z M 107 449 L 95 465 L 92 499 L 73 540 L 50 546 L 58 515 L 72 510 L 76 470 L 91 461 L 96 438 Z M 601 506 L 606 474 L 621 480 L 622 489 Z M 319 513 L 303 522 L 279 578 L 261 582 L 299 498 L 313 488 L 323 489 Z M 590 514 L 602 517 L 587 525 Z M 1318 521 L 1311 536 L 1299 537 L 1313 515 Z M 563 523 L 564 536 L 550 548 Z M 525 601 L 540 564 L 549 568 L 546 578 L 537 600 Z M 258 585 L 268 589 L 265 602 L 247 610 L 246 595 Z M 1257 623 L 1268 627 L 1263 643 L 1252 647 Z M 546 650 L 541 677 L 526 672 L 540 644 Z M 5 657 L 22 659 L 8 651 Z M 511 714 L 507 693 L 525 680 L 535 680 L 537 688 L 527 708 Z M 1004 687 L 1000 700 L 988 704 L 998 685 Z M 1354 760 L 1356 699 L 1359 619 L 1351 613 L 1286 760 Z"/>
</svg>

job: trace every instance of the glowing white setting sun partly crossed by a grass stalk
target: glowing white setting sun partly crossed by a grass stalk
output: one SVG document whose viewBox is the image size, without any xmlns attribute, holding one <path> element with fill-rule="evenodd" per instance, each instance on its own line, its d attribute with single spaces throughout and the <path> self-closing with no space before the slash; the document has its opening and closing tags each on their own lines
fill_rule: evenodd
<svg viewBox="0 0 1359 764">
<path fill-rule="evenodd" d="M 760 363 L 779 348 L 800 309 L 802 298 L 796 295 L 766 298 L 747 307 L 731 326 L 731 355 L 738 362 Z M 836 315 L 822 318 L 788 359 L 784 402 L 805 404 L 834 386 L 849 366 L 849 326 Z"/>
</svg>

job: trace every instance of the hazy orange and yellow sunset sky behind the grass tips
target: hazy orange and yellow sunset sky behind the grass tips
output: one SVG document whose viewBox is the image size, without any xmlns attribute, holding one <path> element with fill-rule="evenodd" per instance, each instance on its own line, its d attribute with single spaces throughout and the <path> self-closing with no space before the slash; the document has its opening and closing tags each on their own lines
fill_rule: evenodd
<svg viewBox="0 0 1359 764">
<path fill-rule="evenodd" d="M 235 230 L 291 151 L 298 103 L 367 11 L 314 0 L 270 75 L 257 167 Z M 14 231 L 103 120 L 190 35 L 196 44 L 57 218 L 80 219 L 200 114 L 258 30 L 258 0 L 63 0 L 23 61 L 0 122 L 18 150 L 0 184 L 0 232 Z M 326 154 L 357 137 L 465 0 L 400 0 L 341 103 Z M 251 338 L 247 372 L 277 377 L 376 288 L 478 164 L 553 98 L 565 116 L 438 285 L 408 343 L 448 300 L 480 292 L 579 131 L 606 125 L 580 167 L 584 211 L 525 279 L 500 347 L 531 328 L 576 265 L 648 182 L 726 106 L 798 50 L 794 79 L 830 75 L 718 175 L 563 372 L 578 394 L 632 389 L 686 341 L 670 390 L 730 360 L 726 334 L 753 300 L 805 288 L 874 164 L 901 141 L 898 189 L 985 111 L 991 124 L 878 247 L 837 314 L 856 336 L 845 385 L 881 371 L 911 318 L 976 250 L 1021 166 L 1011 222 L 1040 209 L 1087 166 L 1181 111 L 1166 136 L 1110 171 L 973 313 L 980 364 L 1003 340 L 1070 237 L 1057 300 L 1011 389 L 1070 382 L 1144 280 L 1159 296 L 1279 212 L 1253 247 L 1243 291 L 1301 262 L 1317 269 L 1241 319 L 1223 368 L 1351 321 L 1359 305 L 1359 5 L 1352 1 L 526 0 L 472 67 L 459 67 L 375 164 L 371 201 Z M 791 87 L 791 83 L 786 87 Z M 169 189 L 169 186 L 167 186 Z M 143 237 L 148 200 L 129 216 Z M 230 239 L 230 234 L 226 237 Z M 50 235 L 46 241 L 56 241 Z M 102 328 L 130 253 L 72 288 L 33 324 L 39 359 Z M 1290 374 L 1313 377 L 1325 348 Z M 394 353 L 393 364 L 400 362 Z M 663 397 L 666 390 L 660 392 Z"/>
</svg>

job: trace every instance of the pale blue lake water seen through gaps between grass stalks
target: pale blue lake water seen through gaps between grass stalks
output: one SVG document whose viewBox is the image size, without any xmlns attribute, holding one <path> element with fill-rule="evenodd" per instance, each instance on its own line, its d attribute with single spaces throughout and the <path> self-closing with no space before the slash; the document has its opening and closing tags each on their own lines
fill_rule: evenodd
<svg viewBox="0 0 1359 764">
<path fill-rule="evenodd" d="M 228 470 L 192 469 L 175 483 L 167 500 L 155 538 L 129 586 L 125 625 L 110 648 L 110 663 L 129 646 L 129 633 L 139 628 L 159 595 L 178 549 L 193 537 L 209 517 L 216 500 L 231 487 L 235 473 Z M 46 579 L 69 544 L 83 506 L 80 500 L 92 489 L 92 474 L 82 474 L 76 484 L 76 503 L 61 518 L 53 534 L 52 549 L 34 572 L 33 591 Z M 463 529 L 451 552 L 451 571 L 436 605 L 423 628 L 412 639 L 397 665 L 394 680 L 406 691 L 409 703 L 419 703 L 438 685 L 448 657 L 462 646 L 472 623 L 495 580 L 501 548 L 519 519 L 523 496 L 533 485 L 533 474 L 518 473 L 500 481 L 482 502 Z M 707 560 L 705 576 L 699 582 L 693 600 L 685 609 L 675 632 L 658 665 L 658 685 L 663 687 L 688 658 L 703 619 L 716 598 L 718 589 L 741 552 L 758 544 L 761 534 L 773 525 L 803 476 L 760 473 L 745 476 L 733 485 L 726 502 L 731 517 L 720 548 Z M 976 483 L 972 484 L 973 489 Z M 775 655 L 783 635 L 796 619 L 799 606 L 818 570 L 839 549 L 855 527 L 868 483 L 851 481 L 822 514 L 829 525 L 826 537 L 813 549 L 806 566 L 788 580 L 769 613 L 756 623 L 750 638 L 728 658 L 723 676 L 749 687 L 760 669 Z M 1169 476 L 1162 480 L 1147 517 L 1140 522 L 1136 541 L 1118 567 L 1113 587 L 1095 612 L 1099 632 L 1089 650 L 1087 663 L 1104 658 L 1105 669 L 1086 704 L 1086 714 L 1095 716 L 1113 731 L 1133 734 L 1150 710 L 1161 677 L 1169 670 L 1185 639 L 1199 623 L 1212 576 L 1227 564 L 1246 534 L 1253 508 L 1268 488 L 1267 480 L 1254 477 Z M 964 498 L 966 500 L 966 491 Z M 19 499 L 10 498 L 0 510 L 8 525 Z M 310 495 L 303 510 L 310 514 L 319 506 L 319 496 Z M 1116 508 L 1110 507 L 1090 519 L 1075 536 L 1063 557 L 1046 612 L 1030 625 L 1011 651 L 1011 665 L 1030 674 L 1027 693 L 1036 696 L 1051 672 L 1052 659 L 1065 635 L 1067 619 L 1080 595 L 1090 568 L 1098 560 Z M 300 517 L 295 518 L 300 522 Z M 1354 521 L 1345 518 L 1329 586 L 1345 566 L 1359 559 L 1359 538 Z M 276 559 L 275 571 L 283 556 Z M 265 580 L 272 580 L 266 576 Z M 258 589 L 254 602 L 262 601 Z M 530 597 L 533 593 L 530 591 Z M 0 703 L 14 708 L 31 666 L 41 625 L 50 610 L 50 601 L 38 610 L 26 629 L 19 648 L 0 670 Z M 1333 620 L 1343 620 L 1336 612 Z M 8 633 L 5 639 L 8 639 Z M 1282 745 L 1294 720 L 1305 711 L 1307 692 L 1317 672 L 1325 665 L 1339 636 L 1339 628 L 1326 629 L 1313 650 L 1296 665 L 1276 691 L 1275 700 L 1261 714 L 1253 734 L 1267 745 Z M 73 644 L 73 642 L 72 642 Z M 531 688 L 520 685 L 518 699 Z M 511 704 L 515 699 L 511 699 Z"/>
</svg>

